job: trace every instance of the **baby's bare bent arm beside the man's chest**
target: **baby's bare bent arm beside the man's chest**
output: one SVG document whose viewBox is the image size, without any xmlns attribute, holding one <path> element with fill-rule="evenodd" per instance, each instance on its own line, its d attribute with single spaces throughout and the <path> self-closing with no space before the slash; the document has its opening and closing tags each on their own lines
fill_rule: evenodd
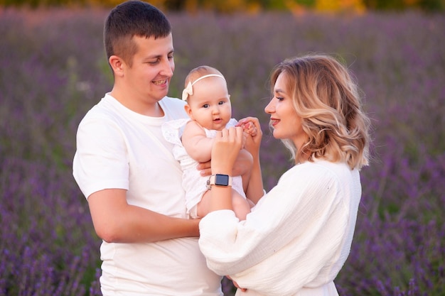
<svg viewBox="0 0 445 296">
<path fill-rule="evenodd" d="M 187 154 L 199 163 L 209 161 L 213 138 L 205 136 L 204 129 L 196 121 L 188 121 L 181 139 Z"/>
</svg>

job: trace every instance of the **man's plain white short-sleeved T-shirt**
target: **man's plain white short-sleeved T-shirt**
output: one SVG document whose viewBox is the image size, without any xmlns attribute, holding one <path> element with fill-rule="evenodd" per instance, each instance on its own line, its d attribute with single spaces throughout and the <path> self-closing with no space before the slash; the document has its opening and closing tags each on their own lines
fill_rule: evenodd
<svg viewBox="0 0 445 296">
<path fill-rule="evenodd" d="M 163 98 L 166 114 L 137 114 L 109 94 L 82 119 L 73 175 L 85 197 L 109 188 L 127 190 L 127 202 L 186 218 L 182 172 L 161 125 L 185 118 L 184 102 Z M 221 277 L 205 265 L 197 238 L 156 243 L 107 243 L 100 247 L 102 294 L 222 296 Z"/>
</svg>

